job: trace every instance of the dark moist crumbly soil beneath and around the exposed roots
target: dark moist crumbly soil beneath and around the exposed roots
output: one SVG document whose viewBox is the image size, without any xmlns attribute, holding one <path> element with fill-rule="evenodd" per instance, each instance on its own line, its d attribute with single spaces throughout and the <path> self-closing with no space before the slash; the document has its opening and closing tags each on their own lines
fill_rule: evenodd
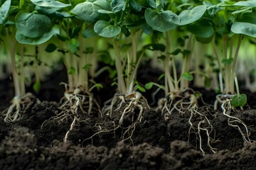
<svg viewBox="0 0 256 170">
<path fill-rule="evenodd" d="M 142 84 L 150 78 L 149 75 L 151 81 L 157 81 L 157 71 L 142 70 L 138 78 Z M 72 115 L 61 123 L 50 120 L 61 112 L 58 101 L 65 91 L 59 85 L 60 81 L 66 81 L 63 75 L 65 71 L 56 71 L 48 81 L 42 82 L 40 94 L 35 94 L 41 103 L 26 108 L 21 120 L 5 123 L 0 118 L 0 169 L 256 169 L 256 94 L 246 89 L 241 88 L 241 92 L 247 94 L 248 106 L 232 111 L 232 115 L 247 125 L 250 142 L 243 140 L 238 129 L 228 125 L 228 118 L 220 109 L 214 111 L 214 91 L 193 88 L 200 91 L 208 103 L 199 101 L 198 113 L 207 114 L 214 128 L 210 133 L 214 139 L 210 146 L 215 148 L 215 153 L 210 151 L 208 136 L 203 130 L 200 147 L 196 128 L 202 119 L 200 116 L 193 117 L 194 129 L 191 129 L 191 113 L 174 112 L 169 120 L 164 120 L 154 103 L 144 112 L 141 122 L 132 122 L 132 117 L 139 112 L 135 109 L 116 129 L 117 118 L 101 117 L 100 112 L 85 115 L 82 118 L 85 121 L 78 123 L 69 133 L 68 141 L 63 142 Z M 94 93 L 103 106 L 115 91 L 110 89 L 111 80 L 107 74 L 96 81 L 104 87 Z M 10 79 L 0 81 L 0 111 L 8 108 L 14 96 L 12 86 Z M 149 103 L 154 102 L 152 91 L 154 89 L 143 94 Z M 100 129 L 108 131 L 100 132 Z M 245 132 L 244 128 L 242 132 Z"/>
</svg>

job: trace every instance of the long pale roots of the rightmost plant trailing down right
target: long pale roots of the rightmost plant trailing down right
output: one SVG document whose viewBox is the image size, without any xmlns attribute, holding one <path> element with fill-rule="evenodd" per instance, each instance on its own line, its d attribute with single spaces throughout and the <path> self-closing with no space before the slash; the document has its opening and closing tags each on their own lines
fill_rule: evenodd
<svg viewBox="0 0 256 170">
<path fill-rule="evenodd" d="M 250 132 L 247 128 L 247 125 L 245 125 L 245 123 L 239 118 L 236 118 L 235 116 L 230 115 L 231 111 L 235 111 L 235 108 L 231 105 L 232 98 L 233 98 L 233 95 L 219 94 L 218 96 L 216 96 L 216 101 L 214 106 L 215 108 L 217 108 L 218 103 L 221 103 L 221 109 L 223 110 L 223 115 L 225 115 L 228 118 L 228 125 L 237 129 L 242 135 L 242 139 L 244 141 L 251 143 Z"/>
</svg>

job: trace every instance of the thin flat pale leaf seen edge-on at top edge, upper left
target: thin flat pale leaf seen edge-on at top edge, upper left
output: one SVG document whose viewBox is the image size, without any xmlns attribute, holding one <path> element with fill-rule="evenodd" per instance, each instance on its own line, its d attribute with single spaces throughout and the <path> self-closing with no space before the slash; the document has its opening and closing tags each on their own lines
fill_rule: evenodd
<svg viewBox="0 0 256 170">
<path fill-rule="evenodd" d="M 65 8 L 70 4 L 63 4 L 62 2 L 55 0 L 31 0 L 31 2 L 37 6 L 50 7 L 50 8 Z"/>
</svg>

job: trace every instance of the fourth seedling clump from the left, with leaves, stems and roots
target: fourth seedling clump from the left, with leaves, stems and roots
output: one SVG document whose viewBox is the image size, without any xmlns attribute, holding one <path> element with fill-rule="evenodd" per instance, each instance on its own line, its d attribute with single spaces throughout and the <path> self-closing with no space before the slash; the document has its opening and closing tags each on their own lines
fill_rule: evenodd
<svg viewBox="0 0 256 170">
<path fill-rule="evenodd" d="M 198 111 L 197 99 L 199 96 L 188 86 L 188 81 L 193 80 L 193 74 L 202 74 L 206 77 L 201 72 L 191 72 L 190 70 L 195 39 L 204 43 L 209 42 L 213 38 L 214 31 L 210 23 L 202 18 L 206 12 L 205 5 L 182 4 L 181 6 L 189 6 L 189 8 L 184 9 L 178 15 L 168 8 L 164 10 L 164 6 L 157 4 L 157 1 L 155 6 L 151 6 L 151 8 L 147 8 L 145 11 L 146 22 L 154 30 L 164 33 L 166 45 L 164 55 L 160 57 L 164 61 L 164 91 L 166 97 L 159 100 L 158 109 L 161 111 L 165 120 L 169 120 L 171 114 L 175 111 L 181 114 L 188 111 L 191 115 L 188 120 L 188 123 L 191 125 L 188 134 L 196 133 L 200 139 L 200 149 L 204 154 L 201 147 L 201 135 L 205 132 L 208 137 L 207 145 L 211 152 L 215 152 L 215 149 L 211 147 L 211 143 L 215 142 L 215 140 L 212 137 L 212 133 L 214 132 L 213 125 L 211 125 L 210 119 L 208 118 L 210 114 L 200 113 Z M 174 28 L 176 28 L 176 32 L 174 32 Z M 180 34 L 181 30 L 185 30 L 186 34 L 183 37 L 177 38 L 180 47 L 171 52 L 171 47 L 176 42 L 174 41 L 176 35 Z M 188 32 L 190 33 L 187 34 Z M 179 53 L 182 55 L 180 74 L 178 74 L 178 68 L 176 66 L 176 55 Z M 170 72 L 171 70 L 172 72 Z M 146 84 L 146 88 L 150 87 L 149 84 Z M 198 118 L 201 121 L 193 123 Z"/>
</svg>

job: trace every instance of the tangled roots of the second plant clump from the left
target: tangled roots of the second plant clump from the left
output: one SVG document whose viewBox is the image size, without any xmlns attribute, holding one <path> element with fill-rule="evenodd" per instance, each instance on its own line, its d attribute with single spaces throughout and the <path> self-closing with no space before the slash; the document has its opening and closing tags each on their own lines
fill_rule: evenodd
<svg viewBox="0 0 256 170">
<path fill-rule="evenodd" d="M 75 130 L 77 126 L 82 122 L 86 122 L 89 118 L 85 118 L 85 115 L 90 115 L 91 113 L 97 113 L 100 109 L 100 105 L 93 99 L 93 96 L 86 91 L 83 91 L 81 88 L 76 88 L 74 91 L 67 90 L 64 97 L 60 100 L 62 105 L 60 109 L 62 110 L 58 115 L 53 116 L 47 121 L 53 121 L 58 123 L 67 123 L 68 120 L 72 120 L 68 132 L 66 132 L 63 141 L 68 140 L 68 135 L 72 130 Z M 63 102 L 63 100 L 65 100 Z M 78 112 L 78 109 L 82 112 Z M 43 125 L 42 125 L 43 126 Z"/>
</svg>

